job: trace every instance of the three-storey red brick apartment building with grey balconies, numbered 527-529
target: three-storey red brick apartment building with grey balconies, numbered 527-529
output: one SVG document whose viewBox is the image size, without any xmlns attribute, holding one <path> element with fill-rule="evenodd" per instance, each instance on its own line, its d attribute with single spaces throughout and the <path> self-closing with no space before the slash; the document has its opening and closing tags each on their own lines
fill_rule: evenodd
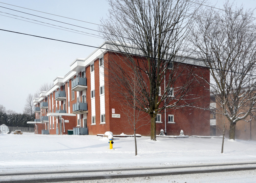
<svg viewBox="0 0 256 183">
<path fill-rule="evenodd" d="M 97 135 L 106 131 L 114 135 L 133 134 L 122 105 L 115 97 L 104 62 L 113 58 L 113 52 L 106 51 L 107 43 L 103 43 L 85 59 L 76 59 L 70 64 L 70 71 L 63 77 L 56 77 L 54 86 L 48 91 L 42 91 L 39 98 L 34 99 L 35 133 L 67 135 L 73 130 L 76 135 Z M 121 62 L 121 60 L 120 60 Z M 209 80 L 209 70 L 202 67 L 192 67 L 194 72 L 204 72 L 204 79 Z M 200 80 L 200 79 L 199 79 Z M 193 91 L 201 95 L 196 106 L 209 106 L 210 97 L 207 83 L 201 80 L 195 83 Z M 182 82 L 182 79 L 181 81 Z M 175 91 L 174 91 L 175 92 Z M 209 111 L 184 107 L 165 111 L 157 115 L 156 133 L 164 129 L 166 135 L 179 135 L 180 130 L 185 135 L 209 135 Z M 144 118 L 144 125 L 136 133 L 150 136 L 149 117 Z M 140 124 L 138 124 L 140 126 Z"/>
</svg>

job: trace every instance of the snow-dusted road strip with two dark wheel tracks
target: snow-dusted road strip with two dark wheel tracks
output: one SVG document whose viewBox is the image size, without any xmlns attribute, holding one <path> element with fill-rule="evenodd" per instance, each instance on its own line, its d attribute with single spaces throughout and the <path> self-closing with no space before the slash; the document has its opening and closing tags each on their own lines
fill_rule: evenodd
<svg viewBox="0 0 256 183">
<path fill-rule="evenodd" d="M 0 174 L 0 182 L 13 183 L 17 180 L 20 183 L 31 182 L 70 182 L 81 180 L 99 180 L 133 177 L 152 177 L 185 174 L 203 174 L 217 172 L 234 172 L 242 170 L 255 170 L 256 163 L 239 164 L 208 164 L 196 166 L 169 166 L 169 167 L 146 167 L 146 168 L 116 168 L 85 171 L 66 172 L 28 172 Z"/>
</svg>

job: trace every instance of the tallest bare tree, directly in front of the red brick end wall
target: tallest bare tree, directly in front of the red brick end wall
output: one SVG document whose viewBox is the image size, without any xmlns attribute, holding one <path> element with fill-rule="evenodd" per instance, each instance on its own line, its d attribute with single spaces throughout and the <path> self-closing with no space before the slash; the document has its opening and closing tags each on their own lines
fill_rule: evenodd
<svg viewBox="0 0 256 183">
<path fill-rule="evenodd" d="M 183 55 L 180 50 L 198 4 L 186 0 L 109 0 L 109 3 L 108 20 L 102 20 L 99 29 L 112 44 L 111 49 L 123 53 L 118 55 L 119 59 L 138 70 L 133 73 L 140 80 L 143 106 L 140 110 L 150 115 L 151 140 L 156 140 L 156 115 L 164 109 L 187 105 L 193 76 L 191 68 L 181 64 L 184 57 L 177 54 Z M 113 60 L 109 60 L 110 65 Z M 185 75 L 188 80 L 181 84 L 179 78 Z"/>
</svg>

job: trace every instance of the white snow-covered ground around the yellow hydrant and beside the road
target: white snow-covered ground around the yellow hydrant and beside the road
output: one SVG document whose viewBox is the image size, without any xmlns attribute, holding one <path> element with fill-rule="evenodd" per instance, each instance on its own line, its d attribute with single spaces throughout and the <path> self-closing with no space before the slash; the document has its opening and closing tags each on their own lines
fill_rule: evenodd
<svg viewBox="0 0 256 183">
<path fill-rule="evenodd" d="M 137 168 L 202 165 L 218 163 L 256 162 L 256 141 L 225 139 L 221 154 L 221 138 L 137 138 L 138 155 L 134 152 L 134 137 L 109 140 L 99 136 L 78 135 L 23 135 L 0 134 L 0 177 L 5 173 L 69 171 L 96 168 Z M 209 175 L 182 175 L 144 177 L 116 182 L 254 182 L 256 171 L 216 173 Z M 223 181 L 223 177 L 230 180 Z M 240 177 L 240 179 L 239 179 Z M 110 181 L 109 182 L 115 182 Z M 76 181 L 79 182 L 79 181 Z M 83 181 L 86 182 L 86 181 Z M 89 182 L 101 182 L 99 180 Z M 108 182 L 102 180 L 102 182 Z"/>
</svg>

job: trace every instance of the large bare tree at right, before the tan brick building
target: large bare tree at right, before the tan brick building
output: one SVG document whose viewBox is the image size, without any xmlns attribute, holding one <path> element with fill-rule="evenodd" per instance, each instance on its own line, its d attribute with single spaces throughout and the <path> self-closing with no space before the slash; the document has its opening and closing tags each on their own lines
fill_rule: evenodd
<svg viewBox="0 0 256 183">
<path fill-rule="evenodd" d="M 230 122 L 229 139 L 236 123 L 249 121 L 256 102 L 256 25 L 253 11 L 228 2 L 224 11 L 200 13 L 192 34 L 195 53 L 210 67 L 210 88 Z"/>
</svg>

